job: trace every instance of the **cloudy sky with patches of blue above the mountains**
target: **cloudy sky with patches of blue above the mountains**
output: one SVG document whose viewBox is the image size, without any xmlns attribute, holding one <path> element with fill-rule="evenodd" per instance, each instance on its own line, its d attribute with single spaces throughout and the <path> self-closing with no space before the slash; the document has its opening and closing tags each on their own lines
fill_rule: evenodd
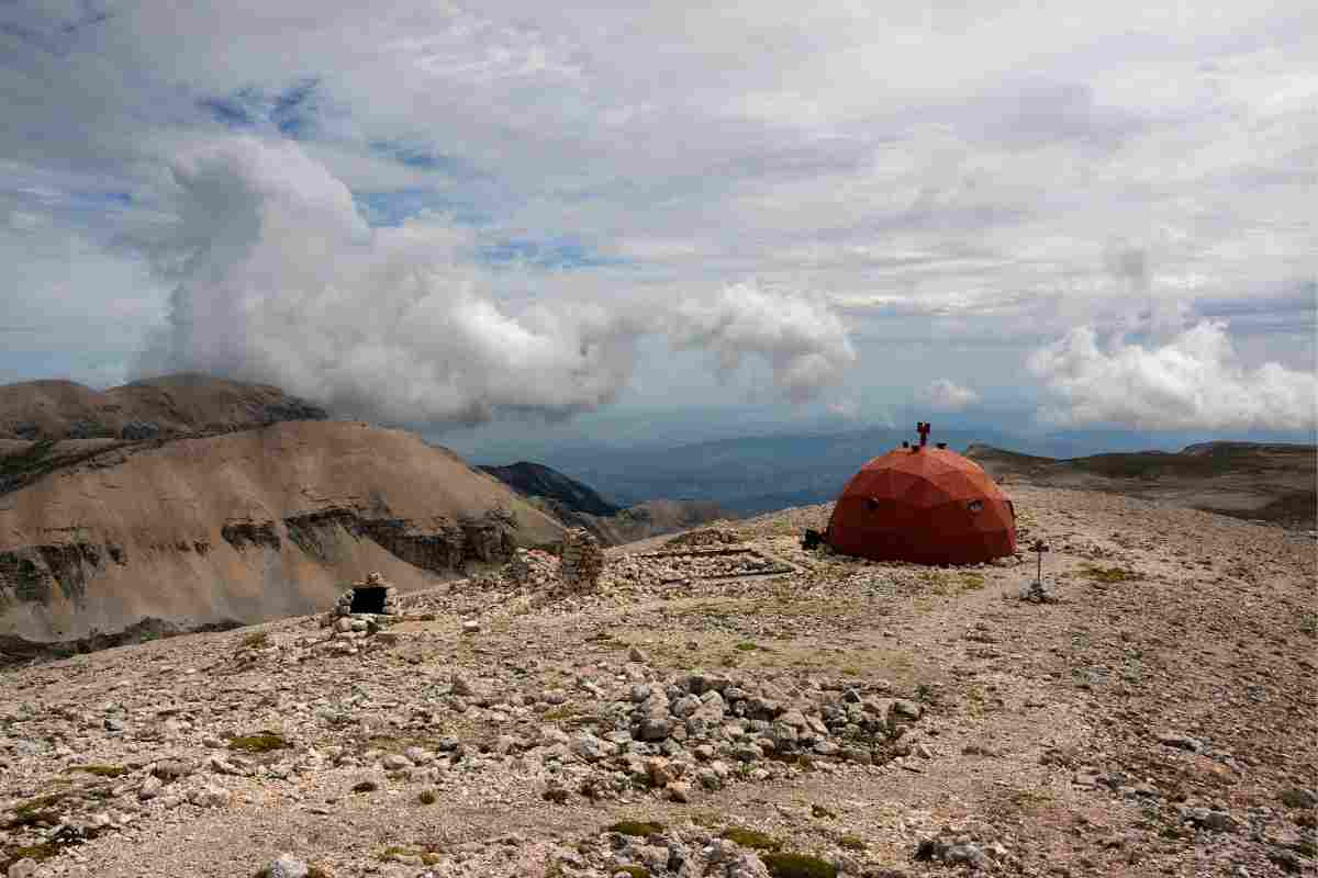
<svg viewBox="0 0 1318 878">
<path fill-rule="evenodd" d="M 341 7 L 0 3 L 0 380 L 1315 426 L 1310 4 Z"/>
</svg>

